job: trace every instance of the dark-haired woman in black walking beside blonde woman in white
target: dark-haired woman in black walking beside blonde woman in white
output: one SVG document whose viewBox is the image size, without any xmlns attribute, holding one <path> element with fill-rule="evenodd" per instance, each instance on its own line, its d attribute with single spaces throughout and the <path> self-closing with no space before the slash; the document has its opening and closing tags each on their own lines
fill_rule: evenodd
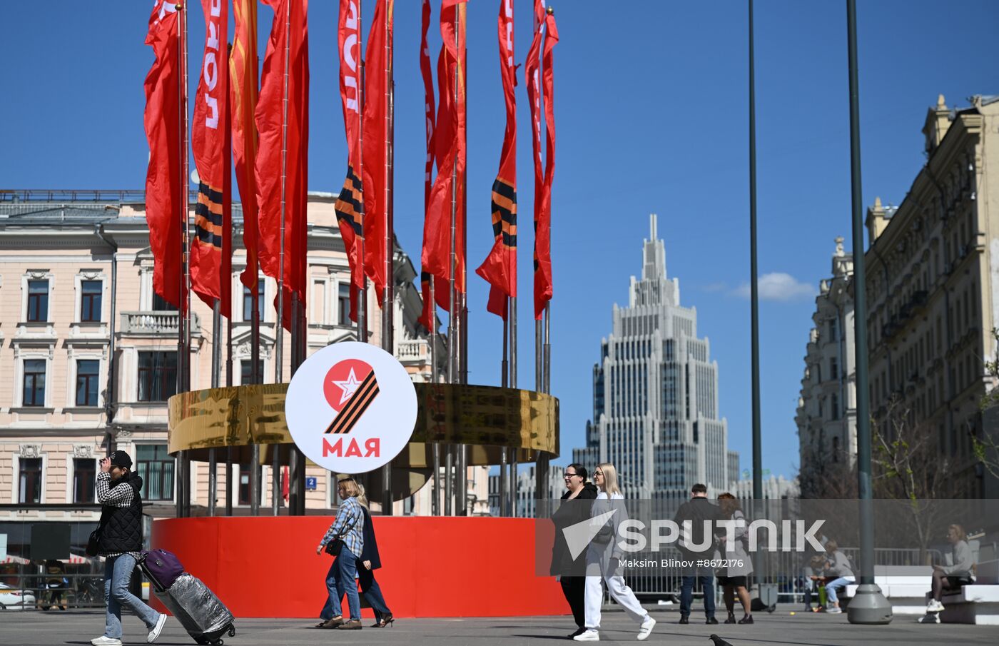
<svg viewBox="0 0 999 646">
<path fill-rule="evenodd" d="M 555 539 L 551 546 L 549 572 L 552 576 L 558 577 L 562 594 L 565 595 L 565 601 L 572 610 L 576 630 L 569 637 L 575 637 L 586 630 L 584 607 L 586 553 L 582 552 L 573 559 L 562 530 L 589 518 L 592 501 L 596 498 L 597 491 L 594 484 L 586 482 L 586 468 L 576 462 L 565 467 L 562 478 L 565 481 L 565 493 L 562 494 L 558 509 L 551 514 L 551 522 L 555 526 Z"/>
</svg>

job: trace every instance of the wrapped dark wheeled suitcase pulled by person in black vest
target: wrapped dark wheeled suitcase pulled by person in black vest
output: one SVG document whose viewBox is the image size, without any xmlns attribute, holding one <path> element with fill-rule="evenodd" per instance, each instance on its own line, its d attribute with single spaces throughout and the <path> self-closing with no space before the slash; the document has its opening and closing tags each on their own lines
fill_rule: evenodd
<svg viewBox="0 0 999 646">
<path fill-rule="evenodd" d="M 221 646 L 224 635 L 236 634 L 233 613 L 198 577 L 184 573 L 166 590 L 154 584 L 153 592 L 199 644 Z"/>
</svg>

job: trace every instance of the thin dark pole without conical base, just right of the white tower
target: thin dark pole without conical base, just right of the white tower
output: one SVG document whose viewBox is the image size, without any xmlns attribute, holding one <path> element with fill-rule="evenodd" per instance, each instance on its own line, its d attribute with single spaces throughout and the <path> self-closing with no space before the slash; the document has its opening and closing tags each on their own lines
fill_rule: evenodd
<svg viewBox="0 0 999 646">
<path fill-rule="evenodd" d="M 759 289 L 756 271 L 756 73 L 752 0 L 749 0 L 749 309 L 752 337 L 752 497 L 763 499 L 763 449 L 759 416 Z"/>
</svg>

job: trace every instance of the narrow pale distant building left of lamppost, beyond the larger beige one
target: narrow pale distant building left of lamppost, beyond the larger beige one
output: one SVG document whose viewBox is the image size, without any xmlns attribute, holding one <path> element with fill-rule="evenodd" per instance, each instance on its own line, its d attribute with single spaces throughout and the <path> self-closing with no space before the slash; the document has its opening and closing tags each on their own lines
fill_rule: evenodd
<svg viewBox="0 0 999 646">
<path fill-rule="evenodd" d="M 853 256 L 836 238 L 829 278 L 819 282 L 814 327 L 808 333 L 805 370 L 794 421 L 798 427 L 804 495 L 813 483 L 851 465 L 857 456 L 856 360 L 853 317 Z"/>
</svg>

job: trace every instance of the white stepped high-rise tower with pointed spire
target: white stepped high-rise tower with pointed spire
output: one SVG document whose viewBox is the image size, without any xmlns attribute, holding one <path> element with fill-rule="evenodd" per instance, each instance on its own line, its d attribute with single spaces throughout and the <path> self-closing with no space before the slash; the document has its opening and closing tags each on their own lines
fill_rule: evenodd
<svg viewBox="0 0 999 646">
<path fill-rule="evenodd" d="M 628 306 L 614 305 L 613 331 L 593 366 L 593 420 L 574 462 L 617 467 L 632 498 L 680 501 L 703 482 L 708 495 L 738 480 L 738 454 L 718 413 L 718 364 L 697 338 L 697 310 L 680 306 L 679 281 L 666 278 L 666 252 L 650 216 L 641 280 Z"/>
</svg>

